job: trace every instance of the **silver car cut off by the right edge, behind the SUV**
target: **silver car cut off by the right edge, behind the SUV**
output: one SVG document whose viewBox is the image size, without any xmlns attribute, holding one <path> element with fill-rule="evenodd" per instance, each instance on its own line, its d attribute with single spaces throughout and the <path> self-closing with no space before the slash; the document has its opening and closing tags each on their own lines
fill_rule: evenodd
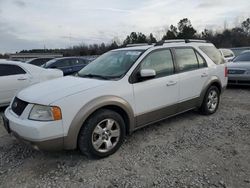
<svg viewBox="0 0 250 188">
<path fill-rule="evenodd" d="M 233 62 L 227 64 L 228 85 L 250 86 L 250 52 L 237 56 Z"/>
</svg>

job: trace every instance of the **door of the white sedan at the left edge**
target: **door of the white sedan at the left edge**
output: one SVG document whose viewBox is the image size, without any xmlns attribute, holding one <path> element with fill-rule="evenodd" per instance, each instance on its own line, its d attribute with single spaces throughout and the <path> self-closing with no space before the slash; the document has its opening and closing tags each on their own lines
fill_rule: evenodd
<svg viewBox="0 0 250 188">
<path fill-rule="evenodd" d="M 8 104 L 18 91 L 29 84 L 29 75 L 20 66 L 0 64 L 0 105 Z"/>
</svg>

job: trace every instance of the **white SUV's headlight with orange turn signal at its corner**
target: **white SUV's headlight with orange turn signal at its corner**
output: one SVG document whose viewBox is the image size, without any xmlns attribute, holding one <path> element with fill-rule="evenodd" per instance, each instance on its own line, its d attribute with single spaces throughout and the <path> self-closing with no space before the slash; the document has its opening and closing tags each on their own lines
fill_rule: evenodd
<svg viewBox="0 0 250 188">
<path fill-rule="evenodd" d="M 29 119 L 36 121 L 56 121 L 62 119 L 61 109 L 57 106 L 34 105 Z"/>
</svg>

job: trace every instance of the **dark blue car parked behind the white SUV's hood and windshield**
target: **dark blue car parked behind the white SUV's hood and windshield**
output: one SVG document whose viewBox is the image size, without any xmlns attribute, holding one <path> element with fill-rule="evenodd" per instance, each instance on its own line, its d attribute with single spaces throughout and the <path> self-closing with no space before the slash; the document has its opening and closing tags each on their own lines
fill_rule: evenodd
<svg viewBox="0 0 250 188">
<path fill-rule="evenodd" d="M 52 59 L 43 64 L 42 67 L 61 69 L 64 76 L 66 76 L 78 72 L 91 61 L 92 59 L 84 57 L 63 57 Z"/>
</svg>

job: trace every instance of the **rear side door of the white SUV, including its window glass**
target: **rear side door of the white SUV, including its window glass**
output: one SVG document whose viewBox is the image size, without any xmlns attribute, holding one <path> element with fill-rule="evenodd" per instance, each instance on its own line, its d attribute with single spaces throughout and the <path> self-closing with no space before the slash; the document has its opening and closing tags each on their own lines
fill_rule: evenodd
<svg viewBox="0 0 250 188">
<path fill-rule="evenodd" d="M 175 48 L 179 74 L 179 111 L 194 107 L 208 79 L 205 59 L 191 47 Z"/>
</svg>

